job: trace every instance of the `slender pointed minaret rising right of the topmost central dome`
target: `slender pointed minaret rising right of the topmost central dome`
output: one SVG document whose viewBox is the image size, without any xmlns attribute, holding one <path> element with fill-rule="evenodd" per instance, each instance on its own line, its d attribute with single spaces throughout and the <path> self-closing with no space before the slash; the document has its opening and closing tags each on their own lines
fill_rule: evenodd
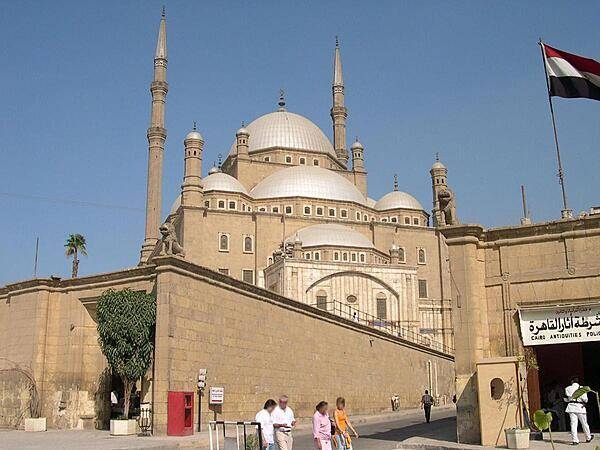
<svg viewBox="0 0 600 450">
<path fill-rule="evenodd" d="M 348 165 L 348 151 L 346 150 L 346 117 L 348 110 L 344 106 L 344 77 L 342 75 L 342 56 L 340 42 L 335 38 L 335 53 L 333 57 L 333 107 L 331 120 L 333 120 L 333 148 L 338 161 Z"/>
</svg>

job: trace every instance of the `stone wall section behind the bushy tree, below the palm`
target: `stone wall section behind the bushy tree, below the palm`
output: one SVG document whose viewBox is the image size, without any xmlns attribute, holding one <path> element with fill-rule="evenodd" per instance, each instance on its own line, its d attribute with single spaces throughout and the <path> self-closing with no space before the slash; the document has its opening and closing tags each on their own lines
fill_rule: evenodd
<svg viewBox="0 0 600 450">
<path fill-rule="evenodd" d="M 144 278 L 144 275 L 146 278 Z M 152 269 L 0 289 L 0 426 L 30 417 L 30 387 L 49 428 L 108 425 L 110 374 L 98 346 L 95 302 L 109 289 L 153 289 Z"/>
</svg>

